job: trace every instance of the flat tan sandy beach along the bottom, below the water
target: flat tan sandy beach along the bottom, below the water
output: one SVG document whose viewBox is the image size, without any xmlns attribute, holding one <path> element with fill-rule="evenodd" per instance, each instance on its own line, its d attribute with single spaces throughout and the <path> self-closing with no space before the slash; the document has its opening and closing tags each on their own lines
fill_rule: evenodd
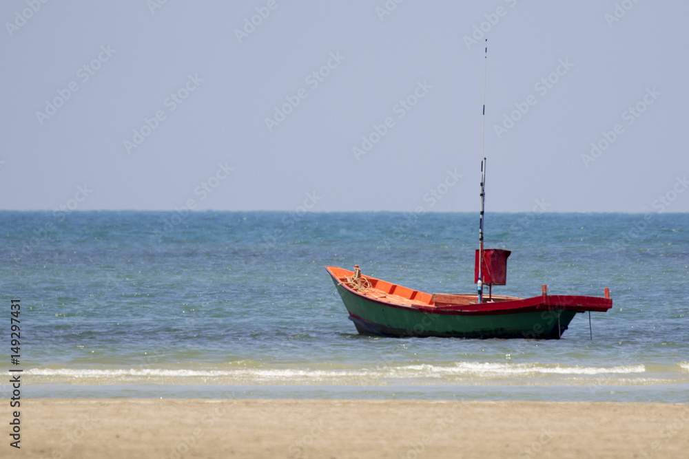
<svg viewBox="0 0 689 459">
<path fill-rule="evenodd" d="M 8 443 L 3 457 L 678 458 L 689 404 L 29 399 L 21 451 Z"/>
</svg>

